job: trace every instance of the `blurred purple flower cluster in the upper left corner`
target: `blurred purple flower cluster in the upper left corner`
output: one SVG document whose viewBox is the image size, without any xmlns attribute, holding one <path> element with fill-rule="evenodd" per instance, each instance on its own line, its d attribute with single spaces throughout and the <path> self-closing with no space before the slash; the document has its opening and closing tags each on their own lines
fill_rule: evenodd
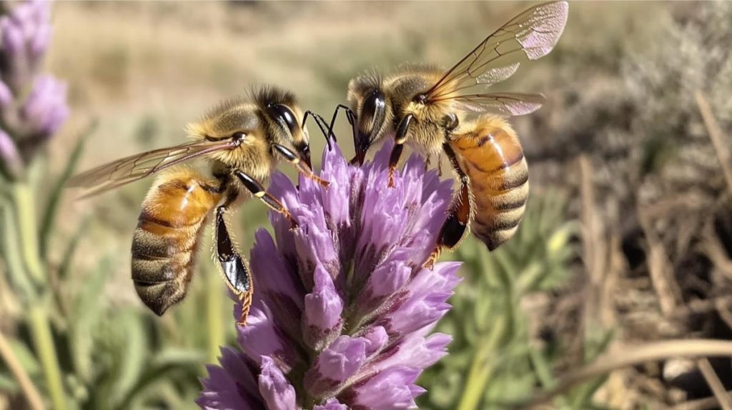
<svg viewBox="0 0 732 410">
<path fill-rule="evenodd" d="M 69 116 L 67 89 L 40 65 L 51 40 L 47 1 L 0 17 L 0 169 L 17 176 Z"/>
</svg>

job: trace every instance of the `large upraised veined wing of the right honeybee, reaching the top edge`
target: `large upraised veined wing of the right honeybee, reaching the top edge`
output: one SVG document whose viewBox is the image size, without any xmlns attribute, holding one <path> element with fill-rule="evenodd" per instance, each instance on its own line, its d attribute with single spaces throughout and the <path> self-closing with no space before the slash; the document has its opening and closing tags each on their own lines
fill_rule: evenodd
<svg viewBox="0 0 732 410">
<path fill-rule="evenodd" d="M 427 91 L 428 101 L 449 99 L 479 84 L 506 80 L 526 60 L 546 56 L 567 23 L 567 1 L 531 7 L 486 37 Z"/>
</svg>

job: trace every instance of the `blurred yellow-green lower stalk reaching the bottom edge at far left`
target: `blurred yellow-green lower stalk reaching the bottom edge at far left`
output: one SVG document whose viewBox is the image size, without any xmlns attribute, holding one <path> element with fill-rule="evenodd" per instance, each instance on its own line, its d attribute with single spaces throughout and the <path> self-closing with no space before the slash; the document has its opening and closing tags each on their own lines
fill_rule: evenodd
<svg viewBox="0 0 732 410">
<path fill-rule="evenodd" d="M 59 368 L 59 360 L 56 357 L 56 349 L 53 346 L 51 325 L 48 323 L 45 308 L 41 305 L 31 306 L 28 319 L 36 354 L 43 368 L 48 393 L 51 395 L 53 409 L 65 410 L 67 401 L 61 381 L 61 369 Z"/>
</svg>

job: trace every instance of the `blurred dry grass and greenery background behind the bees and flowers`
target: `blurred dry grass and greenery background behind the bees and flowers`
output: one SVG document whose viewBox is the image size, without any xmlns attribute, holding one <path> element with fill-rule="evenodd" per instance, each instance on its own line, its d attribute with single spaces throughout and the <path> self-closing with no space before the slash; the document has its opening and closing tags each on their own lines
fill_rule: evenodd
<svg viewBox="0 0 732 410">
<path fill-rule="evenodd" d="M 0 135 L 0 409 L 194 408 L 203 364 L 234 343 L 209 243 L 168 314 L 135 295 L 130 242 L 150 181 L 75 201 L 59 189 L 69 175 L 181 143 L 184 124 L 253 84 L 329 116 L 354 75 L 449 67 L 530 4 L 53 4 L 35 69 L 67 83 L 70 114 L 19 144 L 19 161 Z M 574 3 L 555 50 L 496 86 L 548 97 L 512 120 L 529 210 L 498 251 L 470 239 L 446 256 L 465 262 L 465 279 L 438 326 L 450 354 L 419 381 L 420 407 L 511 409 L 542 392 L 545 408 L 720 407 L 729 357 L 682 356 L 694 339 L 732 338 L 730 21 L 725 1 Z M 337 135 L 352 153 L 345 120 Z M 248 202 L 237 218 L 246 250 L 266 213 Z M 562 387 L 596 357 L 657 341 L 676 341 L 675 354 Z"/>
</svg>

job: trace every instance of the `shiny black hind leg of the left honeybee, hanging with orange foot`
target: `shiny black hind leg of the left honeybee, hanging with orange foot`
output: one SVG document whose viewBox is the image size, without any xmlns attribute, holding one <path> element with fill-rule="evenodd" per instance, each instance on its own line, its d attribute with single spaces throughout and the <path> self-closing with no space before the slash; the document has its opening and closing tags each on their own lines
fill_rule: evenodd
<svg viewBox="0 0 732 410">
<path fill-rule="evenodd" d="M 231 201 L 227 201 L 227 204 Z M 242 302 L 242 316 L 239 317 L 239 324 L 246 326 L 249 308 L 252 305 L 254 293 L 254 281 L 247 264 L 247 259 L 234 248 L 234 241 L 231 240 L 224 213 L 227 204 L 216 208 L 216 257 L 223 270 L 229 288 L 239 297 Z"/>
</svg>

